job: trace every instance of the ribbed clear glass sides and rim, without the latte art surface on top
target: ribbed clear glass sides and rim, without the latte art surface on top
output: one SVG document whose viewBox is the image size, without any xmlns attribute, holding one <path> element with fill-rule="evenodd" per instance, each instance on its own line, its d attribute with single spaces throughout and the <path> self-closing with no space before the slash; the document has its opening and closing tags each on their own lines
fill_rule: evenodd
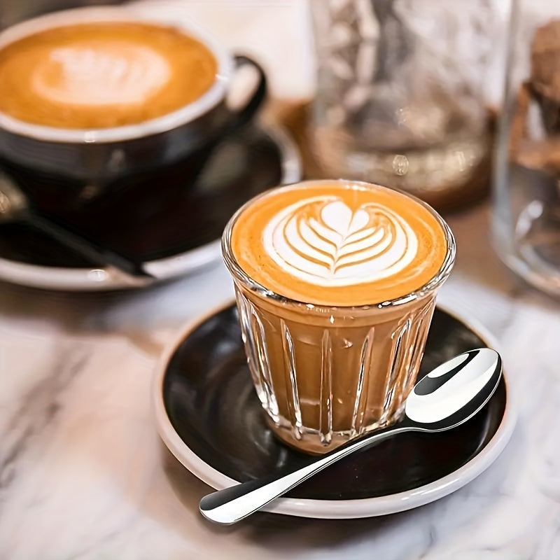
<svg viewBox="0 0 560 560">
<path fill-rule="evenodd" d="M 447 241 L 437 274 L 395 300 L 323 306 L 274 293 L 239 266 L 232 229 L 253 200 L 226 226 L 222 251 L 235 284 L 248 367 L 268 425 L 290 446 L 321 454 L 394 423 L 419 370 L 437 289 L 454 264 L 451 230 L 415 199 L 440 223 Z"/>
</svg>

